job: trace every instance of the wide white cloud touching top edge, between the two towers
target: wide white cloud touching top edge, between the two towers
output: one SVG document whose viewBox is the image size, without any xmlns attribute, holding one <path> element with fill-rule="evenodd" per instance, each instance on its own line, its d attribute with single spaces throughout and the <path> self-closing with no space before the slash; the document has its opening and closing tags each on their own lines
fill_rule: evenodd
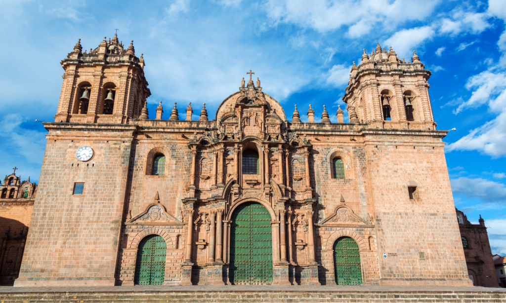
<svg viewBox="0 0 506 303">
<path fill-rule="evenodd" d="M 408 20 L 423 20 L 434 11 L 439 0 L 425 2 L 410 0 L 269 0 L 267 15 L 274 24 L 291 23 L 313 28 L 319 32 L 349 26 L 348 34 L 358 37 L 368 33 L 376 24 L 387 27 Z M 409 12 L 409 14 L 406 14 Z"/>
</svg>

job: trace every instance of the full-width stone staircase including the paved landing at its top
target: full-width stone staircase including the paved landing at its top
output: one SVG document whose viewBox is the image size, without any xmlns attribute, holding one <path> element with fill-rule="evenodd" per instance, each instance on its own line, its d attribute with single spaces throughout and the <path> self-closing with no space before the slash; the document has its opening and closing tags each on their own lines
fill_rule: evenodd
<svg viewBox="0 0 506 303">
<path fill-rule="evenodd" d="M 8 302 L 192 302 L 192 303 L 320 303 L 320 302 L 505 302 L 506 289 L 405 287 L 0 287 L 0 303 Z M 349 289 L 352 288 L 352 289 Z"/>
</svg>

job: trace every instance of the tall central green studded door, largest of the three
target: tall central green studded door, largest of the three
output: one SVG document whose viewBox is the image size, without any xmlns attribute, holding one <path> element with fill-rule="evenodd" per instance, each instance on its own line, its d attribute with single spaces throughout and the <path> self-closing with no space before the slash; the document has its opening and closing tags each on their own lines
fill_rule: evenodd
<svg viewBox="0 0 506 303">
<path fill-rule="evenodd" d="M 271 215 L 258 203 L 244 203 L 232 214 L 230 282 L 272 283 Z"/>
</svg>

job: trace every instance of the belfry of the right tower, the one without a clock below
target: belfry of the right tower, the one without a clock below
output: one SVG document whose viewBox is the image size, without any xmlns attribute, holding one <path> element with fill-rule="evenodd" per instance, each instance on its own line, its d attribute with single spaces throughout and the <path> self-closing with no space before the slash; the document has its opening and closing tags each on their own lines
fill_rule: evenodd
<svg viewBox="0 0 506 303">
<path fill-rule="evenodd" d="M 375 128 L 435 130 L 427 80 L 431 72 L 413 51 L 411 60 L 399 59 L 379 45 L 353 62 L 344 102 L 355 122 Z M 350 114 L 351 115 L 351 114 Z M 351 116 L 350 116 L 351 119 Z M 354 123 L 350 120 L 351 123 Z"/>
</svg>

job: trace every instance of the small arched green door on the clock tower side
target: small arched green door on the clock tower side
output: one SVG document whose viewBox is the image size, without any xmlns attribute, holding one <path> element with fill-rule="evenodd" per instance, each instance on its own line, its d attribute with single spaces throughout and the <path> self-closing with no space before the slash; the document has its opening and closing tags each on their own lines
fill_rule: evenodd
<svg viewBox="0 0 506 303">
<path fill-rule="evenodd" d="M 142 239 L 137 251 L 134 283 L 138 285 L 161 285 L 165 277 L 167 244 L 157 235 Z"/>
</svg>

